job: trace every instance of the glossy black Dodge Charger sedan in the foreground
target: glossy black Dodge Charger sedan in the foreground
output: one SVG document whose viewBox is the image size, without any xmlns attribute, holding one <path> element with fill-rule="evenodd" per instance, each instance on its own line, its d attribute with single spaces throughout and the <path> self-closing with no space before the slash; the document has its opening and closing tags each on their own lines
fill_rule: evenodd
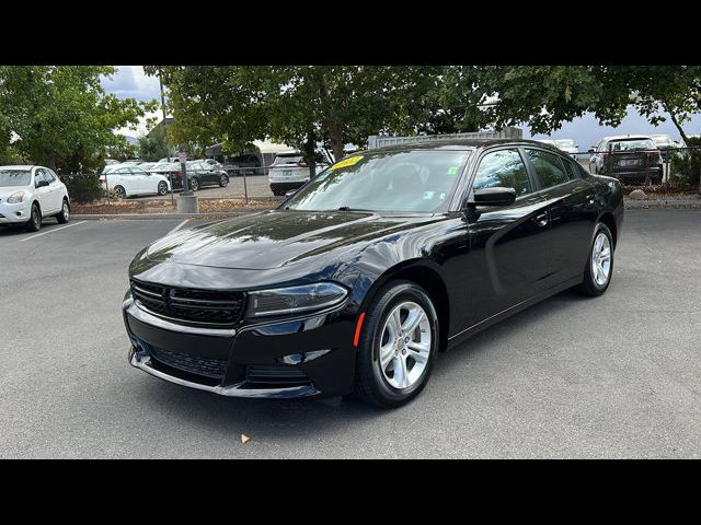
<svg viewBox="0 0 701 525">
<path fill-rule="evenodd" d="M 539 142 L 356 153 L 275 210 L 137 254 L 129 361 L 225 396 L 397 407 L 439 351 L 567 288 L 604 293 L 622 219 L 618 180 Z"/>
</svg>

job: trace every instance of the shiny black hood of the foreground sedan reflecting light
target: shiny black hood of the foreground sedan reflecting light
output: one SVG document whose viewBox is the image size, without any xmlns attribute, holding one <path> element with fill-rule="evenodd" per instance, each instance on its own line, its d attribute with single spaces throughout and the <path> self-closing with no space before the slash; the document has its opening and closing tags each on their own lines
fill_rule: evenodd
<svg viewBox="0 0 701 525">
<path fill-rule="evenodd" d="M 374 238 L 436 220 L 427 214 L 269 211 L 175 232 L 149 246 L 147 257 L 217 268 L 274 269 L 312 257 L 338 258 Z"/>
</svg>

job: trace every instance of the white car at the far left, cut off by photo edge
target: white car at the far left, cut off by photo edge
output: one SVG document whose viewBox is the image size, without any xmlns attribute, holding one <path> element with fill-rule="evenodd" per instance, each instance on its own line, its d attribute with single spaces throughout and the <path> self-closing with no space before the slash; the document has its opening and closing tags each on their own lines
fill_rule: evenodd
<svg viewBox="0 0 701 525">
<path fill-rule="evenodd" d="M 42 220 L 70 219 L 70 198 L 66 185 L 43 166 L 0 166 L 0 224 L 24 224 L 31 232 Z"/>
</svg>

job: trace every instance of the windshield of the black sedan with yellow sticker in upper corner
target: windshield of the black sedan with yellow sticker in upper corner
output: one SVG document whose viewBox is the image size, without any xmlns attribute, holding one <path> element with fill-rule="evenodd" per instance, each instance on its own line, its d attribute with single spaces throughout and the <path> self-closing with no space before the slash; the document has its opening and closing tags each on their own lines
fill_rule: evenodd
<svg viewBox="0 0 701 525">
<path fill-rule="evenodd" d="M 312 178 L 286 208 L 445 211 L 470 154 L 414 150 L 348 156 Z"/>
</svg>

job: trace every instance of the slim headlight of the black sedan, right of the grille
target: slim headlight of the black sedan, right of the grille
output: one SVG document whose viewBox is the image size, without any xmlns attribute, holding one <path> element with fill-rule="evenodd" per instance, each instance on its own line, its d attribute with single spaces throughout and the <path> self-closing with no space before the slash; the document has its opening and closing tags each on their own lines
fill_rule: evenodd
<svg viewBox="0 0 701 525">
<path fill-rule="evenodd" d="M 340 284 L 319 282 L 302 287 L 249 292 L 249 317 L 321 310 L 338 304 L 348 294 Z"/>
</svg>

